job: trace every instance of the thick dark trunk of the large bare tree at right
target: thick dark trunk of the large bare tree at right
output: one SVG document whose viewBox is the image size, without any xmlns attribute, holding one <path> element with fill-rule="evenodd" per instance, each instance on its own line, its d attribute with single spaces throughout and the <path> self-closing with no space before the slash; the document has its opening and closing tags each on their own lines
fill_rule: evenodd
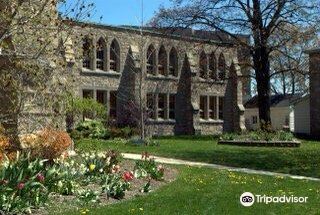
<svg viewBox="0 0 320 215">
<path fill-rule="evenodd" d="M 260 127 L 262 130 L 271 130 L 270 117 L 270 63 L 266 47 L 257 47 L 253 55 L 254 68 L 257 78 L 258 106 Z"/>
</svg>

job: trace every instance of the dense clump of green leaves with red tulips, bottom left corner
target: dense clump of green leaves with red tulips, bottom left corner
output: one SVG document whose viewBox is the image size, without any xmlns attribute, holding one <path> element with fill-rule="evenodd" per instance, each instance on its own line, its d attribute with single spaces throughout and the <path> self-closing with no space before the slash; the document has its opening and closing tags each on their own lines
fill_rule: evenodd
<svg viewBox="0 0 320 215">
<path fill-rule="evenodd" d="M 17 153 L 13 161 L 0 167 L 0 209 L 5 213 L 30 212 L 42 206 L 49 191 L 44 186 L 45 160 L 31 160 L 30 154 Z"/>
</svg>

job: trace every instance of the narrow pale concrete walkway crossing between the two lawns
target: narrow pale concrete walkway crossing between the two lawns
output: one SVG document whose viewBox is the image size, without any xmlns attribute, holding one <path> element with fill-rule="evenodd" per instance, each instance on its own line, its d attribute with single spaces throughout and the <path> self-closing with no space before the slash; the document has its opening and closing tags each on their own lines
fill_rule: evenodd
<svg viewBox="0 0 320 215">
<path fill-rule="evenodd" d="M 122 153 L 122 155 L 126 159 L 141 160 L 141 154 Z M 288 177 L 288 178 L 298 179 L 298 180 L 320 181 L 320 178 L 312 178 L 312 177 L 305 177 L 305 176 L 298 176 L 298 175 L 290 175 L 290 174 L 269 172 L 269 171 L 263 171 L 263 170 L 253 170 L 253 169 L 247 169 L 247 168 L 236 168 L 236 167 L 229 167 L 229 166 L 210 164 L 210 163 L 185 161 L 185 160 L 174 159 L 174 158 L 164 158 L 164 157 L 157 157 L 157 156 L 152 156 L 152 157 L 155 158 L 156 162 L 163 163 L 163 164 L 209 167 L 209 168 L 227 170 L 227 171 L 232 171 L 232 172 L 242 172 L 242 173 L 248 173 L 248 174 Z"/>
</svg>

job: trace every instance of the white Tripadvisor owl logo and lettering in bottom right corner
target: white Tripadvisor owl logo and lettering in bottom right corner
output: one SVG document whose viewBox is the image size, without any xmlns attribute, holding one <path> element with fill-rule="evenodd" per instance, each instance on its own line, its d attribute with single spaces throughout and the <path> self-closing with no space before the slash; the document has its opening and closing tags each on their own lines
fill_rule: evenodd
<svg viewBox="0 0 320 215">
<path fill-rule="evenodd" d="M 253 203 L 307 203 L 308 197 L 298 196 L 267 196 L 267 195 L 253 195 L 250 192 L 245 192 L 240 196 L 240 203 L 245 207 L 250 207 Z"/>
</svg>

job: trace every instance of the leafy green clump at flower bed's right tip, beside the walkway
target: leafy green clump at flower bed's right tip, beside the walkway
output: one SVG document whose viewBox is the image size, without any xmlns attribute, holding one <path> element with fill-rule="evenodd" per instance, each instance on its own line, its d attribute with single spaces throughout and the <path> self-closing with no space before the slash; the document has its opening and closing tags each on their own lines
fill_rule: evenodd
<svg viewBox="0 0 320 215">
<path fill-rule="evenodd" d="M 164 176 L 164 167 L 157 165 L 154 158 L 150 158 L 148 153 L 142 154 L 142 160 L 137 160 L 135 167 L 135 175 L 145 177 L 145 173 L 155 180 L 162 180 Z"/>
</svg>

